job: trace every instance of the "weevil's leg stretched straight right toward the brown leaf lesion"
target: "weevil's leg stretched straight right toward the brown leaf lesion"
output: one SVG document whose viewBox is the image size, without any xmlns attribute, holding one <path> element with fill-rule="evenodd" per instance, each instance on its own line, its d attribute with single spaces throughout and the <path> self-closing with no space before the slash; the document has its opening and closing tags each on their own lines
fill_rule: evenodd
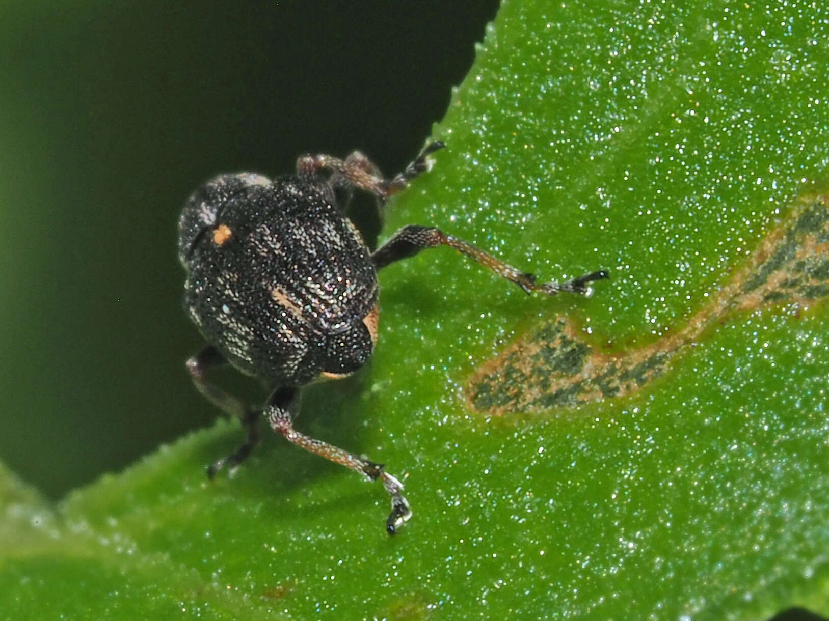
<svg viewBox="0 0 829 621">
<path fill-rule="evenodd" d="M 473 261 L 477 261 L 482 266 L 488 267 L 498 276 L 516 283 L 516 285 L 520 286 L 527 293 L 541 291 L 542 293 L 553 296 L 559 291 L 570 291 L 589 295 L 592 290 L 587 286 L 587 283 L 608 277 L 608 272 L 598 270 L 565 282 L 536 282 L 536 277 L 533 274 L 521 272 L 516 267 L 512 267 L 489 253 L 485 253 L 471 243 L 464 242 L 462 239 L 458 239 L 452 235 L 447 235 L 440 229 L 419 226 L 418 224 L 410 224 L 397 231 L 397 233 L 391 236 L 389 241 L 371 255 L 371 260 L 379 270 L 389 263 L 400 261 L 403 258 L 413 257 L 424 248 L 437 248 L 438 246 L 454 248 L 459 253 L 463 253 L 468 258 L 473 259 Z"/>
</svg>

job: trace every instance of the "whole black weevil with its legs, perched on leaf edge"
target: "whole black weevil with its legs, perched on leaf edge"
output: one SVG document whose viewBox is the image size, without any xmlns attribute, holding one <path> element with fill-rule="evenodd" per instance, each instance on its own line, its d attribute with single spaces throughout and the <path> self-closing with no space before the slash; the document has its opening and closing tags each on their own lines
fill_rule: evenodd
<svg viewBox="0 0 829 621">
<path fill-rule="evenodd" d="M 391 496 L 386 530 L 394 534 L 411 517 L 403 485 L 383 465 L 294 430 L 300 388 L 318 378 L 344 378 L 361 368 L 377 341 L 377 270 L 424 248 L 450 246 L 530 293 L 586 293 L 602 270 L 573 280 L 536 278 L 433 227 L 411 224 L 371 253 L 345 215 L 354 188 L 376 196 L 380 208 L 428 167 L 432 142 L 392 179 L 360 152 L 345 160 L 299 157 L 295 175 L 270 181 L 260 175 L 222 175 L 184 205 L 178 223 L 178 257 L 187 270 L 184 306 L 207 345 L 187 360 L 196 388 L 238 416 L 245 442 L 207 469 L 213 477 L 250 455 L 259 415 L 296 445 L 381 479 Z M 248 407 L 206 381 L 225 363 L 269 388 L 264 408 Z"/>
</svg>

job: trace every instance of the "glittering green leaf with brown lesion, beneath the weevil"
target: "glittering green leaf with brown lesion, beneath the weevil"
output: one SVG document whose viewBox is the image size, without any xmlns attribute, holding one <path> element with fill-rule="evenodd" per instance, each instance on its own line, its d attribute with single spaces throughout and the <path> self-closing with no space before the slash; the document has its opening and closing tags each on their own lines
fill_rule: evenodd
<svg viewBox="0 0 829 621">
<path fill-rule="evenodd" d="M 448 249 L 381 272 L 357 378 L 230 479 L 221 422 L 53 510 L 3 472 L 10 618 L 754 619 L 829 612 L 826 67 L 817 3 L 504 2 L 390 209 Z M 8 614 L 8 613 L 7 613 Z"/>
</svg>

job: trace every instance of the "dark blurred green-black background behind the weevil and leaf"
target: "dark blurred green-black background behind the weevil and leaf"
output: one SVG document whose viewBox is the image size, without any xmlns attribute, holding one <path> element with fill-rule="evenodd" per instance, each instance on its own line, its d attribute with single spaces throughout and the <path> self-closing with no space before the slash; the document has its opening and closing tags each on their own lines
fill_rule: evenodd
<svg viewBox="0 0 829 621">
<path fill-rule="evenodd" d="M 180 306 L 183 200 L 302 152 L 400 170 L 496 11 L 3 2 L 0 460 L 57 498 L 210 425 L 183 366 L 201 344 Z"/>
</svg>

